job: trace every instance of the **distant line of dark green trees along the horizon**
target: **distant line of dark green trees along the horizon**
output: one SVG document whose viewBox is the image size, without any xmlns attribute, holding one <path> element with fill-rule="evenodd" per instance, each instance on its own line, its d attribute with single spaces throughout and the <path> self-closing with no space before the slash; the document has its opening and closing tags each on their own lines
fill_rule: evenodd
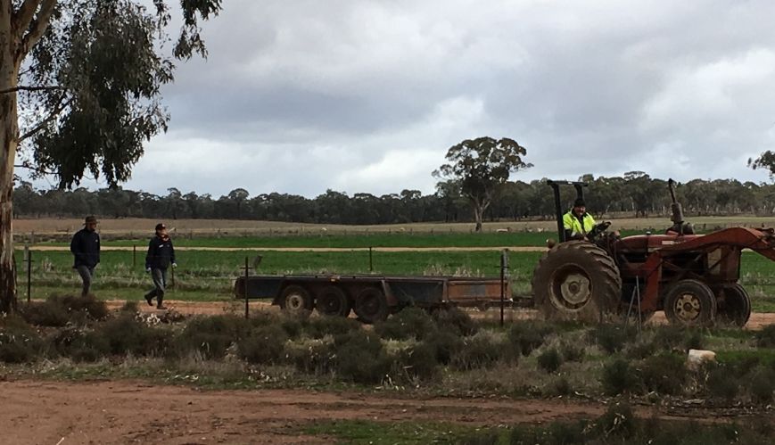
<svg viewBox="0 0 775 445">
<path fill-rule="evenodd" d="M 647 217 L 670 212 L 667 181 L 642 172 L 622 177 L 580 178 L 587 182 L 587 208 L 595 215 Z M 575 192 L 563 196 L 567 208 Z M 775 185 L 741 183 L 734 179 L 694 179 L 677 186 L 677 198 L 688 215 L 754 214 L 775 212 Z M 258 219 L 320 224 L 401 224 L 409 222 L 466 222 L 473 219 L 466 198 L 451 181 L 437 185 L 435 194 L 417 190 L 399 194 L 353 194 L 328 190 L 315 198 L 295 194 L 251 195 L 243 188 L 213 198 L 210 194 L 182 194 L 169 188 L 160 196 L 121 187 L 89 191 L 36 190 L 22 182 L 13 191 L 13 211 L 20 217 L 73 217 L 94 214 L 103 218 L 213 218 Z M 546 179 L 508 182 L 485 212 L 488 220 L 551 218 L 554 201 Z"/>
</svg>

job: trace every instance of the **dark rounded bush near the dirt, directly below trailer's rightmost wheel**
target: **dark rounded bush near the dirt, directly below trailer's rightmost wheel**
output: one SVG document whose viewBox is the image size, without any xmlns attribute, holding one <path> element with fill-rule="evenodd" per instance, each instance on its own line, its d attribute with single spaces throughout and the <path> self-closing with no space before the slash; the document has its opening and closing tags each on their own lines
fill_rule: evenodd
<svg viewBox="0 0 775 445">
<path fill-rule="evenodd" d="M 356 383 L 380 383 L 390 369 L 390 360 L 380 338 L 364 330 L 334 337 L 334 367 L 343 379 Z"/>
</svg>

